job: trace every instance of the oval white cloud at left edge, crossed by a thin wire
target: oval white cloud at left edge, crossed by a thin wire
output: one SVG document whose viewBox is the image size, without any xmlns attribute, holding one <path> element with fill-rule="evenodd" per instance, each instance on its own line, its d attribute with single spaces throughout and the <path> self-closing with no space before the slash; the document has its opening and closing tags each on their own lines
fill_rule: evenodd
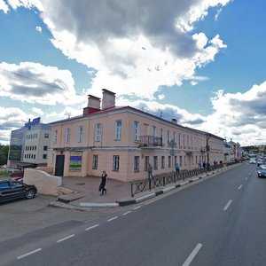
<svg viewBox="0 0 266 266">
<path fill-rule="evenodd" d="M 68 70 L 31 62 L 0 63 L 0 97 L 51 106 L 84 101 L 76 95 L 74 80 Z"/>
</svg>

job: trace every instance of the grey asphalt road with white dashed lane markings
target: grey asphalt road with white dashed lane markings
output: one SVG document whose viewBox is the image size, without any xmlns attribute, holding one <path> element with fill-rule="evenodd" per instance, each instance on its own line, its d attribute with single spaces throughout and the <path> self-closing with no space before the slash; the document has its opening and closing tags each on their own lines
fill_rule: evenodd
<svg viewBox="0 0 266 266">
<path fill-rule="evenodd" d="M 10 239 L 0 245 L 1 261 L 20 266 L 266 265 L 265 192 L 266 179 L 256 177 L 255 165 L 243 163 L 91 223 L 68 221 L 31 232 L 17 244 Z"/>
</svg>

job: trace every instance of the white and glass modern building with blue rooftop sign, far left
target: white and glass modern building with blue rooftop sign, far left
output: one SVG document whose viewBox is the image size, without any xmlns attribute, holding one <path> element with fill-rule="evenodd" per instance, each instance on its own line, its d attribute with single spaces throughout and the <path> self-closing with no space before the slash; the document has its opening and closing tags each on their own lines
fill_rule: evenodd
<svg viewBox="0 0 266 266">
<path fill-rule="evenodd" d="M 40 119 L 28 121 L 21 129 L 12 130 L 8 154 L 9 168 L 47 165 L 51 125 Z"/>
</svg>

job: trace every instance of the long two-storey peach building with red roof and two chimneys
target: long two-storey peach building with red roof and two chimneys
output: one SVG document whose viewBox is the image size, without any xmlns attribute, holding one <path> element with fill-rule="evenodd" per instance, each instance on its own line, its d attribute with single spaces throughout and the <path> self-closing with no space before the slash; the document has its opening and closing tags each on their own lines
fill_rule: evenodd
<svg viewBox="0 0 266 266">
<path fill-rule="evenodd" d="M 176 120 L 116 107 L 109 90 L 103 90 L 100 103 L 89 95 L 82 115 L 51 123 L 48 167 L 56 176 L 100 176 L 106 170 L 110 178 L 135 181 L 147 178 L 149 163 L 153 175 L 159 175 L 171 172 L 176 163 L 182 170 L 198 168 L 200 161 L 223 160 L 221 137 L 207 138 L 206 132 Z"/>
</svg>

